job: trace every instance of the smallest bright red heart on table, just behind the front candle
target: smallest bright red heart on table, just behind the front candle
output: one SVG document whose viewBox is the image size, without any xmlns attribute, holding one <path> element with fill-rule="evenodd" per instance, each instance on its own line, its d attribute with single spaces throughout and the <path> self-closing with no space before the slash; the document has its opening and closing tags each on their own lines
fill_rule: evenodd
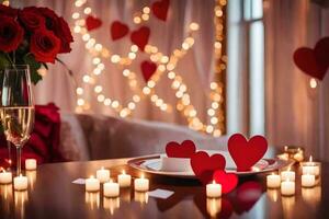
<svg viewBox="0 0 329 219">
<path fill-rule="evenodd" d="M 224 170 L 217 170 L 213 174 L 213 180 L 222 185 L 222 193 L 227 194 L 238 185 L 238 176 L 234 173 L 226 173 Z"/>
</svg>

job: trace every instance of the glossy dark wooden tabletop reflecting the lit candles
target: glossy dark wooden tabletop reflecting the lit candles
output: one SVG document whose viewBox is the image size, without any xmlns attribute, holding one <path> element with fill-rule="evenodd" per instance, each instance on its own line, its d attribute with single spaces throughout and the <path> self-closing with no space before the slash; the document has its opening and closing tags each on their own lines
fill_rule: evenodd
<svg viewBox="0 0 329 219">
<path fill-rule="evenodd" d="M 13 192 L 12 185 L 0 186 L 0 218 L 329 218 L 329 163 L 322 163 L 320 184 L 300 188 L 297 174 L 296 195 L 282 197 L 280 191 L 266 191 L 264 175 L 240 178 L 239 187 L 220 200 L 205 198 L 196 181 L 150 177 L 151 187 L 170 189 L 174 195 L 156 199 L 146 194 L 122 189 L 120 198 L 103 198 L 101 193 L 84 193 L 79 177 L 94 175 L 101 166 L 116 176 L 127 159 L 44 164 L 27 173 L 33 183 L 27 192 Z M 218 212 L 219 211 L 219 212 Z"/>
</svg>

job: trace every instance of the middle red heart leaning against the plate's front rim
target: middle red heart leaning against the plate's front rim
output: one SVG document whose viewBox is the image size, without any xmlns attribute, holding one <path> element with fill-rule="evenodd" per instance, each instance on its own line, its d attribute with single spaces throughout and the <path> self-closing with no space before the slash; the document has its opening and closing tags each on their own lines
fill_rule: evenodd
<svg viewBox="0 0 329 219">
<path fill-rule="evenodd" d="M 212 182 L 216 170 L 225 169 L 226 161 L 219 153 L 209 157 L 205 151 L 198 151 L 191 157 L 190 163 L 195 176 L 203 184 L 207 184 Z"/>
</svg>

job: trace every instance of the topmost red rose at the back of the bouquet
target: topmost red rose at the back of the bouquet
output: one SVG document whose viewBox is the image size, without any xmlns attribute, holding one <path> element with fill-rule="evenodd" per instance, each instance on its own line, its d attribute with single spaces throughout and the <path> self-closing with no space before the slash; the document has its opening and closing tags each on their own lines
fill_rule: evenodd
<svg viewBox="0 0 329 219">
<path fill-rule="evenodd" d="M 46 24 L 45 18 L 39 15 L 33 7 L 25 8 L 22 11 L 20 11 L 19 19 L 29 31 L 43 28 Z"/>
</svg>

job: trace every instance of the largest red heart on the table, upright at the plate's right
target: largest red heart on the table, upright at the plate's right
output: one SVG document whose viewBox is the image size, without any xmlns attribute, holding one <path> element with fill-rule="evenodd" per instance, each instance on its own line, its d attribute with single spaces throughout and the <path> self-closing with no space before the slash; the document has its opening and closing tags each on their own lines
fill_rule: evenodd
<svg viewBox="0 0 329 219">
<path fill-rule="evenodd" d="M 249 141 L 241 134 L 228 139 L 228 151 L 238 171 L 249 171 L 268 150 L 268 141 L 262 136 L 253 136 Z"/>
</svg>

